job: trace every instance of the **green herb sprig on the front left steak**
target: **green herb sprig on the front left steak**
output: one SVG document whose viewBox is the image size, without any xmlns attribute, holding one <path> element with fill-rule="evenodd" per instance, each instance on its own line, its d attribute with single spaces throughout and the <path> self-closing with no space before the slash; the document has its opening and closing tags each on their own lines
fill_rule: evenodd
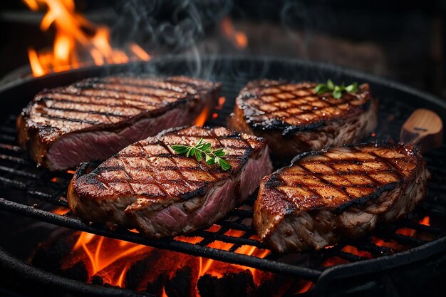
<svg viewBox="0 0 446 297">
<path fill-rule="evenodd" d="M 192 147 L 189 145 L 171 145 L 170 147 L 180 155 L 185 154 L 186 157 L 195 157 L 198 162 L 201 162 L 204 156 L 204 161 L 207 165 L 217 164 L 224 171 L 231 169 L 229 162 L 223 159 L 226 155 L 223 149 L 212 150 L 212 144 L 203 142 L 203 138 L 200 138 Z"/>
</svg>

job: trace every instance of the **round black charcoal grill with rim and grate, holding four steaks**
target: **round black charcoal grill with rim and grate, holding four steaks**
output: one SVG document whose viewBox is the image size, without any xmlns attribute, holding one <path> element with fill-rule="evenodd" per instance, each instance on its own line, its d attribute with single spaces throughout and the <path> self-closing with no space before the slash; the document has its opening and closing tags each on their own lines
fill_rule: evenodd
<svg viewBox="0 0 446 297">
<path fill-rule="evenodd" d="M 367 283 L 367 276 L 375 275 L 380 271 L 398 271 L 398 269 L 410 265 L 417 267 L 425 263 L 427 259 L 444 255 L 446 251 L 445 145 L 425 154 L 427 167 L 432 173 L 429 194 L 408 219 L 380 225 L 373 234 L 356 241 L 343 242 L 323 251 L 310 251 L 288 256 L 269 252 L 263 259 L 238 254 L 237 249 L 240 246 L 266 249 L 256 239 L 255 232 L 251 227 L 252 212 L 250 209 L 256 198 L 255 194 L 247 204 L 217 222 L 217 227 L 212 228 L 213 231 L 209 229 L 197 230 L 188 234 L 187 236 L 201 238 L 197 244 L 190 244 L 181 239 L 151 241 L 127 230 L 112 232 L 104 229 L 103 226 L 85 224 L 71 212 L 59 215 L 49 211 L 54 207 L 67 206 L 65 194 L 73 172 L 48 172 L 36 168 L 36 165 L 28 159 L 26 152 L 21 151 L 16 143 L 16 116 L 21 108 L 24 108 L 33 98 L 33 95 L 43 88 L 66 85 L 91 76 L 125 72 L 192 75 L 222 82 L 221 95 L 226 98 L 226 101 L 221 108 L 211 111 L 211 117 L 207 121 L 207 125 L 210 126 L 225 125 L 239 90 L 249 80 L 256 78 L 294 81 L 326 81 L 331 78 L 336 82 L 370 83 L 373 95 L 378 98 L 380 103 L 378 111 L 380 120 L 376 131 L 366 141 L 398 140 L 401 125 L 417 108 L 435 110 L 441 118 L 446 119 L 446 103 L 427 93 L 357 71 L 295 59 L 216 56 L 197 60 L 196 58 L 172 56 L 157 58 L 149 63 L 81 68 L 64 73 L 53 73 L 41 78 L 28 78 L 3 85 L 0 88 L 0 209 L 42 222 L 115 239 L 181 251 L 276 273 L 291 274 L 296 278 L 316 283 L 313 293 L 322 296 L 333 288 L 337 288 L 340 280 L 351 281 L 353 278 L 358 278 L 360 283 L 361 279 L 363 283 Z M 275 163 L 276 169 L 286 165 L 284 160 L 276 160 Z M 420 223 L 421 219 L 425 217 L 430 218 L 429 225 Z M 225 234 L 231 229 L 241 231 L 243 235 L 236 237 Z M 410 230 L 412 233 L 408 235 L 407 232 L 401 230 Z M 414 234 L 422 234 L 422 236 L 414 236 Z M 381 242 L 394 243 L 394 246 L 400 246 L 400 248 L 395 249 L 393 246 L 389 247 L 388 244 L 378 244 L 377 239 Z M 214 241 L 224 241 L 232 246 L 227 250 L 209 247 L 208 245 Z M 352 249 L 360 251 L 360 253 L 353 252 Z M 361 256 L 361 252 L 369 256 Z M 33 273 L 36 271 L 32 267 L 24 265 L 5 249 L 0 249 L 0 255 L 3 266 L 21 270 L 24 274 L 31 273 L 28 277 L 35 275 Z M 337 259 L 338 265 L 328 267 L 326 263 L 330 259 Z M 404 273 L 401 275 L 404 276 Z M 44 275 L 39 275 L 39 277 L 46 279 Z M 54 277 L 48 277 L 46 281 L 50 283 L 53 281 L 55 286 L 66 283 L 66 286 L 70 286 L 70 288 L 74 286 L 73 282 L 75 282 Z M 379 285 L 379 283 L 378 279 L 375 285 Z M 90 285 L 79 283 L 77 286 Z M 107 288 L 107 290 L 110 293 L 111 288 Z"/>
</svg>

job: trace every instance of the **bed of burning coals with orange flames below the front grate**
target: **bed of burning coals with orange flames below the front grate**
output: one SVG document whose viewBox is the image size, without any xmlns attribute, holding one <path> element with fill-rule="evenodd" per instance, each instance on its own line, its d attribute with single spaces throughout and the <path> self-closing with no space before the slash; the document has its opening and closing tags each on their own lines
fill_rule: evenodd
<svg viewBox="0 0 446 297">
<path fill-rule="evenodd" d="M 56 212 L 60 211 L 56 209 Z M 195 238 L 181 236 L 177 240 L 194 242 Z M 209 246 L 228 248 L 220 241 Z M 242 246 L 235 252 L 259 258 L 269 254 L 267 250 L 251 246 Z M 268 296 L 282 296 L 301 293 L 311 287 L 311 283 L 289 276 L 86 232 L 65 234 L 52 243 L 41 244 L 32 262 L 42 269 L 79 281 L 163 297 L 258 296 L 259 291 L 267 292 Z"/>
</svg>

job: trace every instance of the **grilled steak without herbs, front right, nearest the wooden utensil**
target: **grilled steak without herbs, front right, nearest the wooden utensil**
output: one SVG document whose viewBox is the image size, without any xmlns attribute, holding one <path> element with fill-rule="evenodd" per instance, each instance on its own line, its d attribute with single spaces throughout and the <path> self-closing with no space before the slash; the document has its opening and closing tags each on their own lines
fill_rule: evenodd
<svg viewBox="0 0 446 297">
<path fill-rule="evenodd" d="M 429 177 L 420 153 L 408 145 L 304 153 L 264 177 L 253 224 L 281 253 L 322 249 L 404 217 L 425 198 Z"/>
</svg>

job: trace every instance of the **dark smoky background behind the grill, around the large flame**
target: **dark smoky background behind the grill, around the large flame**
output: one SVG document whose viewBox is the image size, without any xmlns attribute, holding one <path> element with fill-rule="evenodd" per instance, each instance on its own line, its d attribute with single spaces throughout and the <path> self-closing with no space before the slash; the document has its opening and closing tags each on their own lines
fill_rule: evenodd
<svg viewBox="0 0 446 297">
<path fill-rule="evenodd" d="M 136 42 L 151 56 L 187 53 L 281 56 L 356 68 L 445 95 L 446 1 L 77 0 L 110 27 L 113 46 Z M 0 76 L 51 46 L 43 12 L 1 1 Z"/>
</svg>

